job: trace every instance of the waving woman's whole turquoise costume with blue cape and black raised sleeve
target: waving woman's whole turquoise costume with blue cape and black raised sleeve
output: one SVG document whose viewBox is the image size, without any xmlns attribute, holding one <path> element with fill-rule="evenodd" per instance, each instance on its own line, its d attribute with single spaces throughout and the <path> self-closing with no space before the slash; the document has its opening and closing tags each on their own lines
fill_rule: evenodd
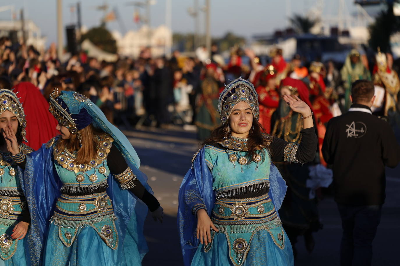
<svg viewBox="0 0 400 266">
<path fill-rule="evenodd" d="M 186 266 L 294 264 L 278 214 L 286 185 L 272 161 L 309 162 L 318 140 L 314 128 L 302 131 L 300 145 L 264 138 L 250 162 L 248 152 L 238 149 L 246 139 L 232 136 L 195 154 L 179 191 L 178 230 Z M 207 245 L 196 238 L 196 212 L 202 208 L 218 229 L 211 229 Z"/>
</svg>

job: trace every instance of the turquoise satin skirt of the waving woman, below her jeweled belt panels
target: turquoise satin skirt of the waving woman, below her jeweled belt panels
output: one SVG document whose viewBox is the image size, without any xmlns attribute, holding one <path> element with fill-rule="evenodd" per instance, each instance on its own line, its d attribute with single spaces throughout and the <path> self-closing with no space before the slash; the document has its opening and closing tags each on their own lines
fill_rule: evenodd
<svg viewBox="0 0 400 266">
<path fill-rule="evenodd" d="M 285 232 L 286 235 L 286 232 Z M 229 258 L 228 241 L 225 234 L 216 233 L 212 247 L 204 252 L 204 245 L 199 244 L 192 260 L 192 266 L 234 265 Z M 285 247 L 280 249 L 266 230 L 257 231 L 251 242 L 250 250 L 243 266 L 292 266 L 294 264 L 292 245 L 284 238 Z"/>
</svg>

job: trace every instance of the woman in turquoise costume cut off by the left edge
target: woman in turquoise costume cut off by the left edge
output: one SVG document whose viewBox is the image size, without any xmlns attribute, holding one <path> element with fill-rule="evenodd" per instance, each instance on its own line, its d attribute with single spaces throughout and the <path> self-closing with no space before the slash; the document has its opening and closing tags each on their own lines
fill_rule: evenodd
<svg viewBox="0 0 400 266">
<path fill-rule="evenodd" d="M 25 236 L 30 216 L 18 174 L 26 154 L 33 152 L 22 143 L 26 141 L 25 127 L 24 109 L 15 93 L 0 90 L 0 128 L 4 137 L 0 137 L 0 265 L 27 264 Z M 11 143 L 15 143 L 13 149 Z"/>
</svg>

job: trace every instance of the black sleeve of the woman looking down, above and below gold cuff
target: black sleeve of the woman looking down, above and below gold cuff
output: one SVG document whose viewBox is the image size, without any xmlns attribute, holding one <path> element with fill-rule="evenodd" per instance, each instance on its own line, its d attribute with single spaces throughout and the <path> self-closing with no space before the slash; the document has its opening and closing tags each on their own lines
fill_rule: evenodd
<svg viewBox="0 0 400 266">
<path fill-rule="evenodd" d="M 119 175 L 128 170 L 128 164 L 126 164 L 124 156 L 114 145 L 111 146 L 110 153 L 107 156 L 107 165 L 113 175 Z M 156 197 L 149 193 L 138 179 L 131 179 L 131 182 L 132 185 L 128 187 L 129 191 L 141 199 L 150 211 L 155 211 L 160 207 Z"/>
</svg>

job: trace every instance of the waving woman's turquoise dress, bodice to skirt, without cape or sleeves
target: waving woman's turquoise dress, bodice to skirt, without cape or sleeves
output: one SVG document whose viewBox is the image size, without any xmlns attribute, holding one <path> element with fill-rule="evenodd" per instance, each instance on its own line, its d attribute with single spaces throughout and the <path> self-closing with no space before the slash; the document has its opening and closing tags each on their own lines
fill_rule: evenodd
<svg viewBox="0 0 400 266">
<path fill-rule="evenodd" d="M 265 149 L 264 154 L 264 162 L 241 166 L 230 156 L 246 152 L 206 145 L 204 160 L 216 191 L 211 221 L 219 232 L 212 230 L 211 244 L 198 246 L 192 265 L 293 265 L 292 246 L 268 193 L 230 198 L 253 189 L 268 191 L 271 160 Z"/>
</svg>

